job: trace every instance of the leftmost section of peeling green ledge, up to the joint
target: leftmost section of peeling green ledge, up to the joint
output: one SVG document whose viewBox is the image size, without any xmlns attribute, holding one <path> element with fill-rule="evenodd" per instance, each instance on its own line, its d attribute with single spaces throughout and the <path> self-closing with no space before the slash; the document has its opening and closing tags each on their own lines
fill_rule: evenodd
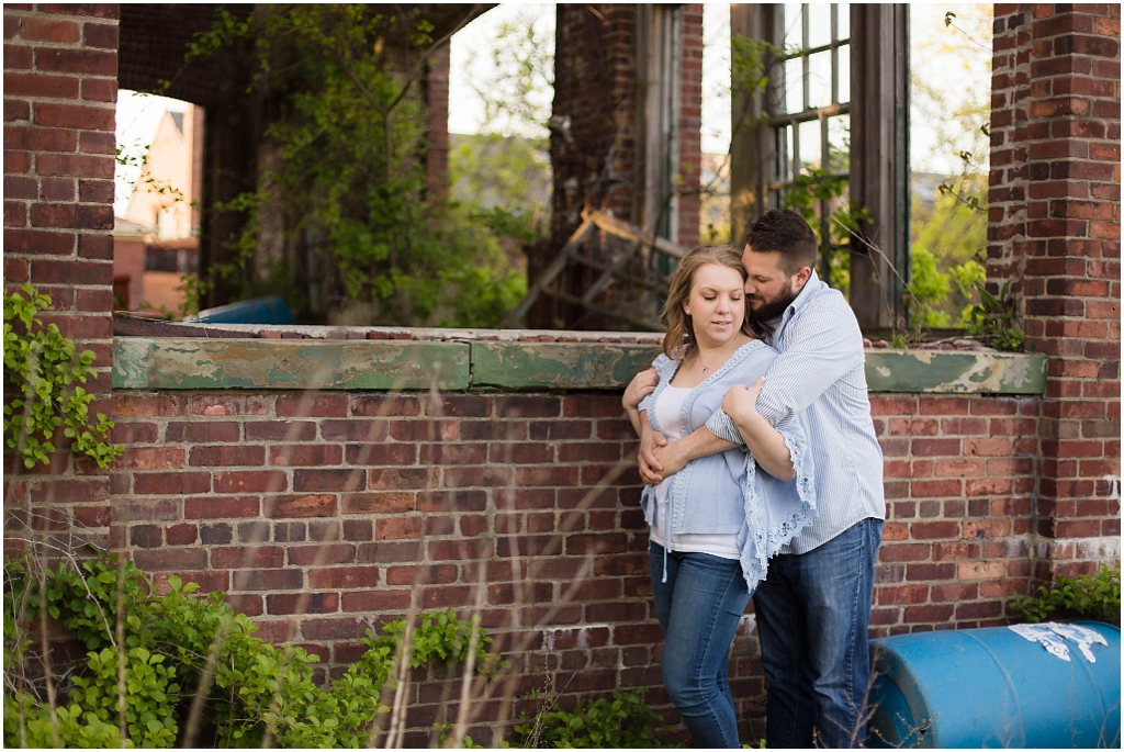
<svg viewBox="0 0 1124 752">
<path fill-rule="evenodd" d="M 469 388 L 466 342 L 114 338 L 115 389 Z"/>
</svg>

